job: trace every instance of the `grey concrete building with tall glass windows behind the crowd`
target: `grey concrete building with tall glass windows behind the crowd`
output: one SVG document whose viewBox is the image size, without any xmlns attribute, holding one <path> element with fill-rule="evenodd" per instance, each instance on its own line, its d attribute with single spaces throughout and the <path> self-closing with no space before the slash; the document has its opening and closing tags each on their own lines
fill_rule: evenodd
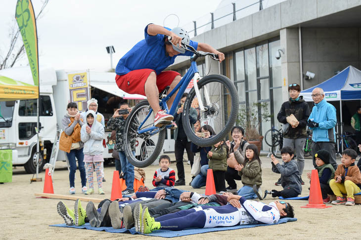
<svg viewBox="0 0 361 240">
<path fill-rule="evenodd" d="M 265 134 L 280 127 L 276 115 L 288 100 L 290 83 L 307 89 L 349 65 L 361 68 L 360 12 L 361 0 L 286 0 L 191 40 L 225 53 L 220 65 L 206 58 L 198 66 L 201 75 L 220 73 L 234 81 L 240 107 L 268 103 L 273 117 L 262 122 Z M 178 57 L 169 69 L 183 75 L 188 67 L 189 59 Z M 315 77 L 307 80 L 307 71 Z M 351 116 L 357 105 L 360 101 L 346 104 Z M 351 116 L 344 116 L 346 124 Z"/>
</svg>

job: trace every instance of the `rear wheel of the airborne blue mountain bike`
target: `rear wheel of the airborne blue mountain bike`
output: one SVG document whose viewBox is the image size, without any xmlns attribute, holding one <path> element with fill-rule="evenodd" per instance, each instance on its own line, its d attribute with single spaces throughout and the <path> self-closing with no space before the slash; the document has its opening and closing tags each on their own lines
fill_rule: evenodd
<svg viewBox="0 0 361 240">
<path fill-rule="evenodd" d="M 123 135 L 127 159 L 136 167 L 149 166 L 159 157 L 166 137 L 165 129 L 137 133 L 138 127 L 149 114 L 147 101 L 138 103 L 127 118 Z M 154 126 L 154 112 L 144 122 L 141 129 Z M 133 154 L 135 152 L 135 155 Z"/>
</svg>

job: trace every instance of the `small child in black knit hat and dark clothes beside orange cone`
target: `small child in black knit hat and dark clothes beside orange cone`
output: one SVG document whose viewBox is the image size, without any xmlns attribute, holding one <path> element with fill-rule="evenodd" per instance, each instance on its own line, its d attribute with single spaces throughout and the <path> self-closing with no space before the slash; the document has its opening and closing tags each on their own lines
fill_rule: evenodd
<svg viewBox="0 0 361 240">
<path fill-rule="evenodd" d="M 316 162 L 316 169 L 318 171 L 319 185 L 321 186 L 321 193 L 323 203 L 330 203 L 328 194 L 333 194 L 329 182 L 335 176 L 335 169 L 330 164 L 330 154 L 326 150 L 318 150 L 314 155 Z M 311 180 L 311 172 L 307 173 L 307 177 Z"/>
</svg>

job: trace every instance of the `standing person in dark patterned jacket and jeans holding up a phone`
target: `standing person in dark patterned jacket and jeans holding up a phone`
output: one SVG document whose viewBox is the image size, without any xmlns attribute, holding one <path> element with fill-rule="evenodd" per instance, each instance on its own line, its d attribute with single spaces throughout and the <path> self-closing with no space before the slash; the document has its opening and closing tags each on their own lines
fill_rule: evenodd
<svg viewBox="0 0 361 240">
<path fill-rule="evenodd" d="M 134 193 L 134 166 L 125 155 L 125 144 L 123 143 L 123 134 L 126 120 L 132 109 L 129 107 L 127 101 L 121 101 L 119 103 L 119 109 L 114 112 L 113 116 L 108 121 L 108 128 L 116 131 L 116 140 L 114 149 L 119 153 L 119 159 L 122 165 L 122 171 L 124 174 L 125 183 L 127 189 L 122 192 L 122 195 L 128 195 Z M 134 140 L 135 141 L 135 140 Z M 134 144 L 131 144 L 134 146 Z"/>
</svg>

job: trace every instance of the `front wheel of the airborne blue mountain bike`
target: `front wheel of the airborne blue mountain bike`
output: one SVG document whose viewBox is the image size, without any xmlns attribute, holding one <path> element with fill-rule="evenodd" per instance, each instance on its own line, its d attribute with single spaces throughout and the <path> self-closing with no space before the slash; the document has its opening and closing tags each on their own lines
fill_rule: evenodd
<svg viewBox="0 0 361 240">
<path fill-rule="evenodd" d="M 207 111 L 201 111 L 198 108 L 197 118 L 200 120 L 201 126 L 211 126 L 215 134 L 210 138 L 201 138 L 195 135 L 193 124 L 197 118 L 194 118 L 192 113 L 195 113 L 194 111 L 199 105 L 194 87 L 189 91 L 185 100 L 182 123 L 185 134 L 194 144 L 208 147 L 224 140 L 232 129 L 238 115 L 238 94 L 234 84 L 223 75 L 209 75 L 199 80 L 198 88 Z M 206 103 L 207 93 L 210 100 L 209 105 Z"/>
</svg>

